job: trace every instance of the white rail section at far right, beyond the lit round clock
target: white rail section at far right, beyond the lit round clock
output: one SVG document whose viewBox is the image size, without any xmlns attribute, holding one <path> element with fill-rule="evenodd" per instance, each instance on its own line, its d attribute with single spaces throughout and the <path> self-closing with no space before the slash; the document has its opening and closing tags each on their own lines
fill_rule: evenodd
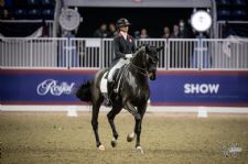
<svg viewBox="0 0 248 164">
<path fill-rule="evenodd" d="M 248 39 L 209 39 L 203 40 L 203 45 L 207 50 L 202 54 L 202 69 L 248 70 Z"/>
</svg>

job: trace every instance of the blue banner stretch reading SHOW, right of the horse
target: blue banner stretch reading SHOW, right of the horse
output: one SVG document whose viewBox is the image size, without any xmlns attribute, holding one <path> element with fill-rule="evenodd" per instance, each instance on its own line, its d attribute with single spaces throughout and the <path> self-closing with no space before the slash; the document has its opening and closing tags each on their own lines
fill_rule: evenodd
<svg viewBox="0 0 248 164">
<path fill-rule="evenodd" d="M 153 105 L 248 106 L 248 74 L 161 73 L 151 85 Z"/>
</svg>

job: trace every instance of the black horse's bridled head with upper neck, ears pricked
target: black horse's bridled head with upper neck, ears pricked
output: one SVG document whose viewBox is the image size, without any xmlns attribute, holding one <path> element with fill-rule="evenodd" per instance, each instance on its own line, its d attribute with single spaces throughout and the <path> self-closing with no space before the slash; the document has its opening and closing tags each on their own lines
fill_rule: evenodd
<svg viewBox="0 0 248 164">
<path fill-rule="evenodd" d="M 139 48 L 136 53 L 136 58 L 138 58 L 136 65 L 143 68 L 151 80 L 155 80 L 155 72 L 159 63 L 158 52 L 162 48 L 163 46 L 154 47 L 145 45 Z"/>
</svg>

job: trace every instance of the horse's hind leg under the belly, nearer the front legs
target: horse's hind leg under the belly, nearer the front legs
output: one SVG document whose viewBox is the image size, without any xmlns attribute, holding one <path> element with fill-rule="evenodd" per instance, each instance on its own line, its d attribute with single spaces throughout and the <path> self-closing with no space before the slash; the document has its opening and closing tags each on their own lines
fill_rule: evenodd
<svg viewBox="0 0 248 164">
<path fill-rule="evenodd" d="M 116 125 L 115 125 L 115 117 L 116 114 L 118 114 L 121 110 L 121 107 L 119 106 L 114 106 L 112 109 L 109 111 L 109 113 L 107 114 L 108 117 L 108 122 L 112 129 L 112 140 L 111 140 L 111 146 L 115 147 L 117 145 L 117 139 L 118 139 L 118 133 L 116 130 Z"/>
</svg>

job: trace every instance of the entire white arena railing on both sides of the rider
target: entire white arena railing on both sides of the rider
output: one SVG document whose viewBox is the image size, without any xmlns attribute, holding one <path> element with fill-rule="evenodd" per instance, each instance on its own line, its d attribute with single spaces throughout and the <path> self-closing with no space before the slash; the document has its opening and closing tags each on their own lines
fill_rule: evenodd
<svg viewBox="0 0 248 164">
<path fill-rule="evenodd" d="M 248 69 L 248 39 L 142 39 L 136 44 L 164 46 L 159 69 Z M 0 37 L 3 68 L 104 68 L 112 58 L 112 39 Z"/>
</svg>

